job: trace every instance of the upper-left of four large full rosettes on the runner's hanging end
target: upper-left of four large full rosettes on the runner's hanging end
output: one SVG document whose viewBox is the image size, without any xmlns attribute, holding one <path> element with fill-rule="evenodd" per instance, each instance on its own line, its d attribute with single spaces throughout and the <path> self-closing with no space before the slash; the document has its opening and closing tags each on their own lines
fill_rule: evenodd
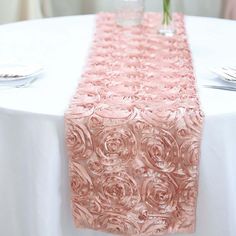
<svg viewBox="0 0 236 236">
<path fill-rule="evenodd" d="M 131 130 L 109 127 L 97 133 L 94 142 L 96 153 L 103 165 L 126 163 L 137 153 L 137 142 Z"/>
</svg>

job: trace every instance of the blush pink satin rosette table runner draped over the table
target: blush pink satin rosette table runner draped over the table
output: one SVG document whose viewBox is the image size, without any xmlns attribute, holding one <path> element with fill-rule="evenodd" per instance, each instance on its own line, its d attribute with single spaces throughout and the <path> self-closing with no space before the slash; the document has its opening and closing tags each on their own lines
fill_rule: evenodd
<svg viewBox="0 0 236 236">
<path fill-rule="evenodd" d="M 121 235 L 193 232 L 203 116 L 182 15 L 122 28 L 99 14 L 66 113 L 74 221 Z M 79 43 L 79 42 L 78 42 Z"/>
</svg>

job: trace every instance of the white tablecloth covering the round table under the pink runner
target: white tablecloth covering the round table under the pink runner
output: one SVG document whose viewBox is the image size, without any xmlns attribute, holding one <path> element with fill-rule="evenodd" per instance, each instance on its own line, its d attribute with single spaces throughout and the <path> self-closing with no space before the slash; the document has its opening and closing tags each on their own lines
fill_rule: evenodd
<svg viewBox="0 0 236 236">
<path fill-rule="evenodd" d="M 64 112 L 86 63 L 94 16 L 0 27 L 0 61 L 40 63 L 29 88 L 0 88 L 0 235 L 102 236 L 70 212 Z M 205 126 L 194 236 L 236 235 L 236 92 L 203 88 L 235 64 L 236 22 L 186 17 Z M 10 58 L 10 59 L 9 59 Z"/>
</svg>

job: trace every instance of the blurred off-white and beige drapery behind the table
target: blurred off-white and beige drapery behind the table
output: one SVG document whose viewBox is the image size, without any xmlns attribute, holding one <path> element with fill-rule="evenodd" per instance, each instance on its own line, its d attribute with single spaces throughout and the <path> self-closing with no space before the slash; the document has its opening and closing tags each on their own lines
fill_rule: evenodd
<svg viewBox="0 0 236 236">
<path fill-rule="evenodd" d="M 119 0 L 0 0 L 0 23 L 40 17 L 114 11 Z M 228 0 L 172 0 L 173 9 L 187 15 L 220 17 Z M 236 1 L 236 0 L 231 0 Z M 161 11 L 162 0 L 146 0 L 147 11 Z"/>
</svg>

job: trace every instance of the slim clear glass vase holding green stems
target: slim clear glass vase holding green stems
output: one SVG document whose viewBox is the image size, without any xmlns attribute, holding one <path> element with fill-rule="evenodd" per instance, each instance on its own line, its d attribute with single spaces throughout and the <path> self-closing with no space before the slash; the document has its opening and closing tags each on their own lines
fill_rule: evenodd
<svg viewBox="0 0 236 236">
<path fill-rule="evenodd" d="M 173 36 L 175 34 L 174 22 L 172 18 L 171 0 L 162 0 L 162 21 L 159 33 L 164 36 Z"/>
</svg>

